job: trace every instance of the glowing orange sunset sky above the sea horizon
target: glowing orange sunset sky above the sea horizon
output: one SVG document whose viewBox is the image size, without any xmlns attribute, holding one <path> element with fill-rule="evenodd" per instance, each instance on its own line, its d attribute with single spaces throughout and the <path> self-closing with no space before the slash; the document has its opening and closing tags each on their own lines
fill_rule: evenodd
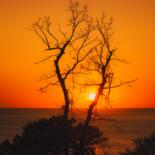
<svg viewBox="0 0 155 155">
<path fill-rule="evenodd" d="M 81 2 L 88 5 L 94 17 L 103 11 L 113 16 L 114 45 L 118 55 L 130 62 L 117 64 L 116 75 L 122 81 L 138 78 L 132 86 L 112 91 L 112 106 L 155 107 L 155 1 Z M 34 64 L 44 56 L 45 47 L 28 27 L 44 16 L 50 16 L 53 25 L 64 25 L 67 7 L 68 0 L 0 0 L 0 107 L 48 108 L 63 104 L 60 88 L 50 88 L 44 94 L 38 91 L 42 83 L 36 79 L 50 67 Z"/>
</svg>

